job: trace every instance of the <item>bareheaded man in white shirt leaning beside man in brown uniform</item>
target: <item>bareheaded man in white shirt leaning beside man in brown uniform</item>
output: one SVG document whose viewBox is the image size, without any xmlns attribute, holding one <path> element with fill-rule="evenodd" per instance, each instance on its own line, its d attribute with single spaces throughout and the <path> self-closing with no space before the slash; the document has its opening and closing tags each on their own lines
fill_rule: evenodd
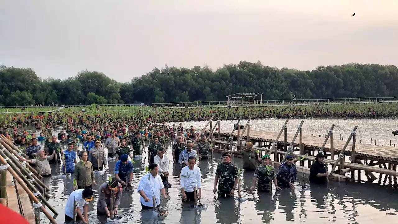
<svg viewBox="0 0 398 224">
<path fill-rule="evenodd" d="M 155 197 L 155 206 L 160 205 L 160 193 L 164 199 L 167 199 L 166 191 L 162 179 L 158 175 L 159 166 L 156 163 L 151 163 L 148 166 L 149 173 L 144 175 L 138 185 L 138 193 L 140 193 L 140 203 L 143 210 L 153 208 L 153 197 Z"/>
</svg>

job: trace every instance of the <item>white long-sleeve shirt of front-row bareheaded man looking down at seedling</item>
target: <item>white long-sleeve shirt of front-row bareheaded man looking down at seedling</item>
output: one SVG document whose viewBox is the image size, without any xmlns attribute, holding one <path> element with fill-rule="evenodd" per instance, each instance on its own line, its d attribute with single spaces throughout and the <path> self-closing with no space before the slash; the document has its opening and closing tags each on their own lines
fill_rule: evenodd
<svg viewBox="0 0 398 224">
<path fill-rule="evenodd" d="M 160 204 L 160 190 L 162 190 L 163 188 L 164 185 L 159 175 L 156 175 L 154 177 L 152 174 L 147 173 L 146 175 L 141 177 L 137 191 L 144 190 L 144 194 L 149 198 L 149 201 L 145 201 L 144 198 L 141 196 L 140 203 L 148 207 L 153 207 L 152 197 L 155 196 L 156 206 L 158 206 Z"/>
</svg>

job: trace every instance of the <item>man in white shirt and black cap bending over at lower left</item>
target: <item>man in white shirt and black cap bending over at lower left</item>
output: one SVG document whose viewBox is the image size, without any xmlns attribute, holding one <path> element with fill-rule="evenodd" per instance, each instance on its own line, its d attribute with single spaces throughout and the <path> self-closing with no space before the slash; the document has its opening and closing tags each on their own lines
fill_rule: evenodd
<svg viewBox="0 0 398 224">
<path fill-rule="evenodd" d="M 93 190 L 91 188 L 78 189 L 70 193 L 65 205 L 65 222 L 73 221 L 73 204 L 77 201 L 76 220 L 81 219 L 83 223 L 88 223 L 88 203 L 93 200 Z"/>
</svg>

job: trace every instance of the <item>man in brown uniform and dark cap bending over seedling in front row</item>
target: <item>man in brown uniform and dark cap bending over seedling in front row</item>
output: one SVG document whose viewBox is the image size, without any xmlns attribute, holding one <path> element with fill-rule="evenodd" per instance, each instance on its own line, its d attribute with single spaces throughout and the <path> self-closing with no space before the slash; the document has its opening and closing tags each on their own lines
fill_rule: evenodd
<svg viewBox="0 0 398 224">
<path fill-rule="evenodd" d="M 122 200 L 123 187 L 116 178 L 109 177 L 109 181 L 100 186 L 100 198 L 97 203 L 97 214 L 107 215 L 111 217 L 111 202 L 110 198 L 113 195 L 113 214 L 117 214 L 120 201 Z"/>
</svg>

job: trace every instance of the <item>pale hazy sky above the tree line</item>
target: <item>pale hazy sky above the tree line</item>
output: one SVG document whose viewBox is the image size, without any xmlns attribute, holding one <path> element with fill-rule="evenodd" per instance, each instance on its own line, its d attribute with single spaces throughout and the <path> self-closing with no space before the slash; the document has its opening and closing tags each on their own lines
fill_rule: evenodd
<svg viewBox="0 0 398 224">
<path fill-rule="evenodd" d="M 351 14 L 356 13 L 355 16 Z M 41 78 L 239 61 L 398 65 L 398 0 L 0 0 L 0 64 Z"/>
</svg>

